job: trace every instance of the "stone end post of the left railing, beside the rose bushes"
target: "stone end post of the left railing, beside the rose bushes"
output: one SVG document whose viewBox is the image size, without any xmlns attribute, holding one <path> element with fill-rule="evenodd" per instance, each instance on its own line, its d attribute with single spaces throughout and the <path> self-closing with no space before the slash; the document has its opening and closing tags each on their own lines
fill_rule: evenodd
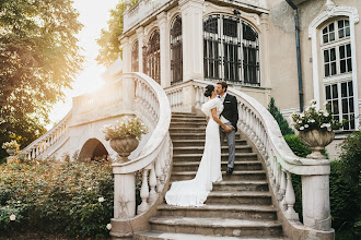
<svg viewBox="0 0 361 240">
<path fill-rule="evenodd" d="M 132 239 L 130 218 L 136 216 L 136 176 L 120 173 L 119 164 L 113 164 L 114 218 L 110 219 L 112 239 Z"/>
</svg>

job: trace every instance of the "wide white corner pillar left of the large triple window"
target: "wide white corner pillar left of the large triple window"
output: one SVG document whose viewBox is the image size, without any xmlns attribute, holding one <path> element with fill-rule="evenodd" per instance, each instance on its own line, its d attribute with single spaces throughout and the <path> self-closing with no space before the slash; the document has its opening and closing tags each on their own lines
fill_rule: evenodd
<svg viewBox="0 0 361 240">
<path fill-rule="evenodd" d="M 203 80 L 203 2 L 179 0 L 183 35 L 183 81 Z"/>
</svg>

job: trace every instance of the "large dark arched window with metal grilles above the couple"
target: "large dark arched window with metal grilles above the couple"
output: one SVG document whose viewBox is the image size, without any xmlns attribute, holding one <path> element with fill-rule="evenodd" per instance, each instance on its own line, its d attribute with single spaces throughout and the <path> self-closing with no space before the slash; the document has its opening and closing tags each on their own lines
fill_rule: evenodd
<svg viewBox="0 0 361 240">
<path fill-rule="evenodd" d="M 235 16 L 203 20 L 205 79 L 260 85 L 258 33 Z"/>
</svg>

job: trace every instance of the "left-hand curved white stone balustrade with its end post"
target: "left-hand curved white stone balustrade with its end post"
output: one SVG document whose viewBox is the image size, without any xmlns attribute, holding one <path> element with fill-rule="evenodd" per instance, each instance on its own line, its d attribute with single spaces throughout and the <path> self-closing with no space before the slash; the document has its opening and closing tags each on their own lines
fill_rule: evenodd
<svg viewBox="0 0 361 240">
<path fill-rule="evenodd" d="M 110 231 L 113 237 L 131 236 L 136 230 L 144 230 L 141 227 L 145 226 L 139 223 L 148 220 L 149 216 L 145 213 L 162 199 L 160 196 L 168 181 L 173 158 L 173 145 L 168 133 L 172 112 L 163 88 L 143 73 L 123 74 L 123 87 L 126 87 L 128 93 L 135 93 L 135 113 L 145 118 L 155 128 L 138 157 L 127 163 L 113 164 L 115 175 L 114 218 Z M 141 204 L 136 212 L 135 175 L 138 171 L 142 173 L 142 184 Z"/>
</svg>

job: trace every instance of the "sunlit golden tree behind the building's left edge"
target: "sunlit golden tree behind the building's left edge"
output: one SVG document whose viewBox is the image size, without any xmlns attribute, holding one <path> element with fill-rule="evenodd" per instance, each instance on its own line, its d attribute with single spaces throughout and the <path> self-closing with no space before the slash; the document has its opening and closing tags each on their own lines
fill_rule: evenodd
<svg viewBox="0 0 361 240">
<path fill-rule="evenodd" d="M 123 13 L 126 8 L 124 1 L 120 1 L 115 9 L 110 10 L 108 28 L 102 29 L 101 37 L 96 40 L 101 47 L 100 53 L 96 57 L 96 61 L 100 64 L 109 67 L 123 53 L 118 37 L 123 33 Z"/>
</svg>

